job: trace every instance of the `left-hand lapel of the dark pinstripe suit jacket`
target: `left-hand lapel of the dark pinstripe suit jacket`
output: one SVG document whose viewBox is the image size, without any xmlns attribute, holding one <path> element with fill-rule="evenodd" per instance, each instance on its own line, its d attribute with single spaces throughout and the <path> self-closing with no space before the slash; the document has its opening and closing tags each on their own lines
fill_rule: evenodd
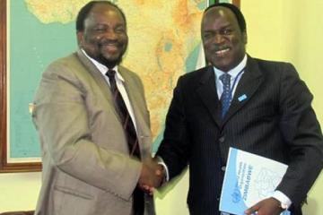
<svg viewBox="0 0 323 215">
<path fill-rule="evenodd" d="M 215 85 L 215 74 L 212 66 L 205 67 L 205 73 L 201 77 L 200 86 L 197 88 L 197 94 L 202 99 L 205 107 L 208 109 L 216 125 L 221 125 L 220 101 L 217 96 Z M 203 73 L 201 71 L 201 73 Z"/>
</svg>

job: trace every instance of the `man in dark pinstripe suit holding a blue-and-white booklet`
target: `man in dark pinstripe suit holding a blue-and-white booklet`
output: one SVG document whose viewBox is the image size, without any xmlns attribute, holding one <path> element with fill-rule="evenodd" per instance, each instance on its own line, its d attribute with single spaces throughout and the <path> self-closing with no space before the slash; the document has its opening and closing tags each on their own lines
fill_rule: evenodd
<svg viewBox="0 0 323 215">
<path fill-rule="evenodd" d="M 221 214 L 229 148 L 247 150 L 288 169 L 275 193 L 246 214 L 301 214 L 323 163 L 309 89 L 292 64 L 246 54 L 246 23 L 234 5 L 209 6 L 201 33 L 210 64 L 179 78 L 157 151 L 169 179 L 189 166 L 190 214 Z"/>
</svg>

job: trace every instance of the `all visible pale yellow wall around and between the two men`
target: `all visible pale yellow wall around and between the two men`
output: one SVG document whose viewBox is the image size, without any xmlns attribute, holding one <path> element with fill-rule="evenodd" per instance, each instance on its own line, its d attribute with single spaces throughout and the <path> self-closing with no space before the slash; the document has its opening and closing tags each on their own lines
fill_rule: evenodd
<svg viewBox="0 0 323 215">
<path fill-rule="evenodd" d="M 268 1 L 241 0 L 241 10 L 248 24 L 249 54 L 292 62 L 314 95 L 313 107 L 323 125 L 323 99 L 319 98 L 320 81 L 323 80 L 322 9 L 321 0 L 272 0 L 270 4 Z M 33 209 L 39 186 L 40 173 L 1 174 L 0 212 Z M 188 173 L 156 194 L 157 213 L 188 214 L 187 190 Z M 310 190 L 304 214 L 323 214 L 323 202 L 319 198 L 322 190 L 323 176 L 320 176 Z"/>
</svg>

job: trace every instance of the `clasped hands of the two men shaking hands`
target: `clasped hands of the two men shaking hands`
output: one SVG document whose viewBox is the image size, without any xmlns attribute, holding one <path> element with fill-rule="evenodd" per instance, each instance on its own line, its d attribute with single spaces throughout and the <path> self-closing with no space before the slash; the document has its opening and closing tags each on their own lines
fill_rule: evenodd
<svg viewBox="0 0 323 215">
<path fill-rule="evenodd" d="M 140 173 L 138 186 L 145 192 L 153 194 L 154 188 L 162 185 L 165 177 L 165 170 L 156 159 L 148 158 L 142 161 L 143 168 Z"/>
</svg>

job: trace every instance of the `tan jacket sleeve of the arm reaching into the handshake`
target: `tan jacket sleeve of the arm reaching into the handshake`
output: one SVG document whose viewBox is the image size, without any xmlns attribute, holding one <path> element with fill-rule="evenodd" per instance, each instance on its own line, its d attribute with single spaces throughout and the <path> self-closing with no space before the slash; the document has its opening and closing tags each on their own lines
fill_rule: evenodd
<svg viewBox="0 0 323 215">
<path fill-rule="evenodd" d="M 43 153 L 49 153 L 51 165 L 65 174 L 128 200 L 137 184 L 141 163 L 96 144 L 85 99 L 82 84 L 66 66 L 48 67 L 36 94 L 33 114 Z"/>
</svg>

